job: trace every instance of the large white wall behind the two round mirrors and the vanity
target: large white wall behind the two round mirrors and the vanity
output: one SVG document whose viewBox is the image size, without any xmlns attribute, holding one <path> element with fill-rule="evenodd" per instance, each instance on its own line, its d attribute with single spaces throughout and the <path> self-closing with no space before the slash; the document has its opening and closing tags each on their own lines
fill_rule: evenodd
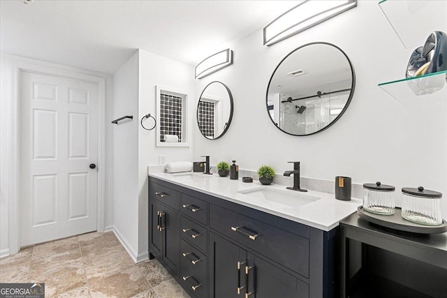
<svg viewBox="0 0 447 298">
<path fill-rule="evenodd" d="M 378 1 L 359 1 L 357 8 L 271 47 L 262 40 L 258 30 L 233 43 L 233 65 L 196 80 L 196 94 L 213 80 L 227 84 L 235 108 L 231 126 L 219 140 L 206 140 L 194 126 L 195 159 L 205 154 L 212 164 L 235 159 L 247 170 L 269 164 L 279 173 L 291 169 L 288 161 L 301 161 L 302 177 L 332 181 L 344 175 L 356 184 L 392 184 L 398 204 L 404 186 L 422 185 L 447 196 L 447 103 L 402 105 L 377 87 L 404 78 L 413 51 L 404 49 Z M 286 54 L 316 41 L 346 52 L 356 71 L 356 90 L 346 113 L 327 131 L 287 135 L 268 117 L 268 82 Z M 446 218 L 447 199 L 443 201 Z"/>
</svg>

